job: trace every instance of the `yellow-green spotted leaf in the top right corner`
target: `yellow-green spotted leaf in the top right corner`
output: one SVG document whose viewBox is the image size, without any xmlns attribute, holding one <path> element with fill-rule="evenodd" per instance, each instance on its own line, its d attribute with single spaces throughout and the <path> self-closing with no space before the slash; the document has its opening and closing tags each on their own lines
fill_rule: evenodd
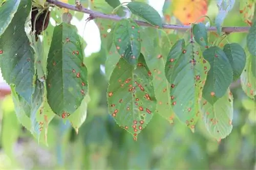
<svg viewBox="0 0 256 170">
<path fill-rule="evenodd" d="M 242 16 L 243 21 L 251 25 L 254 13 L 255 3 L 251 0 L 240 1 L 239 12 Z"/>
</svg>

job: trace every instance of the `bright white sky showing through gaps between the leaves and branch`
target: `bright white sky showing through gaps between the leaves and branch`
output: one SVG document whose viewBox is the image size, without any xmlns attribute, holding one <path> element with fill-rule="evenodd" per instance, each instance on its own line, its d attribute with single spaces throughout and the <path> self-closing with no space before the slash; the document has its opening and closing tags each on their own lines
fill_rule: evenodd
<svg viewBox="0 0 256 170">
<path fill-rule="evenodd" d="M 123 2 L 130 2 L 130 0 L 120 0 L 121 3 Z M 149 4 L 155 8 L 159 14 L 162 16 L 162 7 L 164 4 L 164 0 L 148 0 Z M 86 27 L 85 26 L 85 20 L 88 18 L 88 14 L 84 14 L 83 18 L 81 21 L 79 21 L 77 18 L 73 18 L 71 20 L 71 24 L 77 27 L 78 29 L 78 34 L 81 35 L 84 40 L 87 42 L 87 47 L 84 50 L 84 54 L 86 54 L 86 57 L 89 57 L 92 53 L 97 53 L 100 50 L 100 35 L 99 35 L 99 29 L 96 25 L 96 23 L 91 20 L 90 22 L 87 23 Z M 50 22 L 53 26 L 55 26 L 55 21 L 51 18 Z M 104 71 L 104 67 L 101 67 L 101 71 Z M 1 88 L 5 88 L 7 84 L 5 83 L 1 70 L 0 70 L 0 86 Z"/>
</svg>

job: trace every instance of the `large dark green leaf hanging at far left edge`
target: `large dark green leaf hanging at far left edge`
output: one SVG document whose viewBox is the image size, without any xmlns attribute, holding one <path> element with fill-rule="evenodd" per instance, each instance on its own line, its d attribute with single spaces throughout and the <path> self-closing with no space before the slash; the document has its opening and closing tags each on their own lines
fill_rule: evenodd
<svg viewBox="0 0 256 170">
<path fill-rule="evenodd" d="M 0 37 L 0 66 L 3 78 L 15 85 L 15 91 L 28 103 L 34 91 L 34 52 L 25 32 L 31 1 L 20 1 L 17 12 L 5 33 Z"/>
</svg>

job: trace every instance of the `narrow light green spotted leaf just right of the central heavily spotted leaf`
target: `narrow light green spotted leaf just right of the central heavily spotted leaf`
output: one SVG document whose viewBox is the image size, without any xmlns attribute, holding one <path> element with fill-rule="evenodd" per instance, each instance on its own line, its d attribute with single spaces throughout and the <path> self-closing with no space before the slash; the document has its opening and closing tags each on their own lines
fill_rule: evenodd
<svg viewBox="0 0 256 170">
<path fill-rule="evenodd" d="M 141 30 L 141 52 L 145 56 L 149 68 L 148 76 L 152 77 L 157 100 L 156 112 L 173 123 L 174 112 L 170 104 L 170 86 L 164 76 L 164 59 L 159 45 L 157 29 L 146 28 Z"/>
</svg>

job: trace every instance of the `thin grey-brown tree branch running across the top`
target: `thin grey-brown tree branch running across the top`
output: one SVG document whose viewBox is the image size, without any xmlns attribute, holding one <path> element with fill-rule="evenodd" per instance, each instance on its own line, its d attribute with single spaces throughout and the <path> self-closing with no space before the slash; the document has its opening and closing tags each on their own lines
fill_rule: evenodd
<svg viewBox="0 0 256 170">
<path fill-rule="evenodd" d="M 50 4 L 54 4 L 59 8 L 66 8 L 69 10 L 73 10 L 73 11 L 77 11 L 77 12 L 82 12 L 82 13 L 86 13 L 86 14 L 90 14 L 91 16 L 93 16 L 94 18 L 104 18 L 104 19 L 111 19 L 111 20 L 121 20 L 122 17 L 118 16 L 118 15 L 107 15 L 107 14 L 103 14 L 101 12 L 97 12 L 97 11 L 92 11 L 86 8 L 77 8 L 76 6 L 70 5 L 70 4 L 66 4 L 66 3 L 62 3 L 56 0 L 47 0 L 48 3 Z M 138 25 L 140 26 L 151 26 L 154 27 L 152 25 L 150 25 L 147 22 L 144 21 L 139 21 L 139 20 L 135 20 Z M 190 26 L 183 26 L 183 25 L 167 25 L 167 24 L 163 24 L 163 28 L 164 29 L 169 29 L 169 30 L 183 30 L 186 31 L 188 29 L 190 29 Z M 225 33 L 232 33 L 232 32 L 248 32 L 250 27 L 223 27 L 222 28 L 222 32 Z M 210 27 L 207 29 L 208 31 L 211 32 L 217 32 L 217 28 L 216 27 Z"/>
</svg>

